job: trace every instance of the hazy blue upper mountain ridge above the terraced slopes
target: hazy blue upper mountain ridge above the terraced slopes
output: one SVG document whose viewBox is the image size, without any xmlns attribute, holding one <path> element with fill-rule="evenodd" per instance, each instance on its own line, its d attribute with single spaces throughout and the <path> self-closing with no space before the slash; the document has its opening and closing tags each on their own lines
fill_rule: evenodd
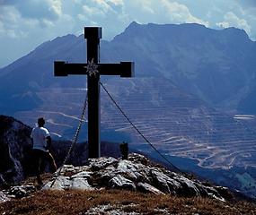
<svg viewBox="0 0 256 215">
<path fill-rule="evenodd" d="M 137 77 L 163 77 L 214 107 L 253 114 L 249 100 L 255 91 L 255 53 L 256 43 L 244 30 L 132 22 L 111 41 L 102 40 L 101 61 L 135 61 Z M 41 104 L 40 97 L 33 93 L 41 88 L 84 86 L 81 78 L 57 80 L 51 74 L 55 60 L 84 62 L 85 59 L 83 35 L 66 35 L 41 44 L 29 55 L 1 69 L 4 89 L 1 110 L 12 113 L 37 107 Z M 14 89 L 10 88 L 13 83 Z M 15 92 L 20 92 L 22 99 Z M 13 93 L 13 97 L 7 97 L 8 93 Z M 19 105 L 11 106 L 8 101 L 13 100 Z"/>
</svg>

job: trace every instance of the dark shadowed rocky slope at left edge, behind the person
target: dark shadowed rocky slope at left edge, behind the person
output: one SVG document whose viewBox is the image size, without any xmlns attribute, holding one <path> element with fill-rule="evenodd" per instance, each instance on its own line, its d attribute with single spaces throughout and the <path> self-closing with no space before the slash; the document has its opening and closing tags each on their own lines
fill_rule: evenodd
<svg viewBox="0 0 256 215">
<path fill-rule="evenodd" d="M 23 166 L 31 147 L 31 128 L 13 117 L 0 115 L 0 186 L 24 178 Z"/>
</svg>

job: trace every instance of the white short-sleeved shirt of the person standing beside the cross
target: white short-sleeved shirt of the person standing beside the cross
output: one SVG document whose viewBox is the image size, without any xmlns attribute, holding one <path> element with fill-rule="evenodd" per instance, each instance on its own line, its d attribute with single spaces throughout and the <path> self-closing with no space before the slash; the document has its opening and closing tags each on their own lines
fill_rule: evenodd
<svg viewBox="0 0 256 215">
<path fill-rule="evenodd" d="M 49 137 L 49 131 L 44 127 L 35 127 L 31 132 L 31 138 L 33 139 L 34 150 L 44 150 L 47 147 L 47 137 Z"/>
</svg>

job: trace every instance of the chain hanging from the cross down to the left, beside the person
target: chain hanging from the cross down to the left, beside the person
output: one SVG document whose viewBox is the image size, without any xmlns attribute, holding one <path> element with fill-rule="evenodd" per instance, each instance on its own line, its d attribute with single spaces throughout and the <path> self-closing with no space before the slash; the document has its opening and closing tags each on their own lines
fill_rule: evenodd
<svg viewBox="0 0 256 215">
<path fill-rule="evenodd" d="M 53 182 L 49 186 L 50 188 L 55 184 L 55 182 L 57 180 L 57 177 L 60 175 L 62 168 L 66 164 L 66 161 L 69 159 L 69 157 L 70 157 L 70 155 L 71 155 L 71 153 L 72 153 L 72 151 L 73 151 L 73 149 L 75 147 L 75 144 L 77 142 L 77 138 L 78 138 L 79 132 L 81 130 L 81 127 L 82 127 L 82 124 L 83 124 L 83 121 L 84 121 L 84 115 L 85 115 L 85 111 L 86 111 L 86 107 L 87 107 L 87 101 L 88 101 L 88 90 L 86 92 L 86 97 L 84 99 L 84 107 L 83 107 L 82 115 L 81 115 L 80 120 L 79 120 L 79 124 L 78 124 L 76 132 L 75 132 L 75 136 L 74 136 L 74 138 L 72 140 L 72 143 L 71 143 L 71 145 L 69 147 L 69 150 L 67 151 L 66 158 L 64 159 L 61 167 L 58 168 L 57 175 L 55 176 L 55 179 L 53 180 Z"/>
</svg>

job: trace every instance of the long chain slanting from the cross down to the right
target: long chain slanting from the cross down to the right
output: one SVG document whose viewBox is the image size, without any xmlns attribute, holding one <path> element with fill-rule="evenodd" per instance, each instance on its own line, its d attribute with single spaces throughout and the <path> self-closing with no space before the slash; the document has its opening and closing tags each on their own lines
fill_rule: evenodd
<svg viewBox="0 0 256 215">
<path fill-rule="evenodd" d="M 138 130 L 137 126 L 134 125 L 133 122 L 131 122 L 131 120 L 128 118 L 128 116 L 126 115 L 126 113 L 121 109 L 121 107 L 119 107 L 119 104 L 115 101 L 115 99 L 113 99 L 113 97 L 110 95 L 110 92 L 104 87 L 104 85 L 102 84 L 102 82 L 100 82 L 100 84 L 101 84 L 101 86 L 102 86 L 102 89 L 108 94 L 108 96 L 110 97 L 110 99 L 111 99 L 111 101 L 114 103 L 114 105 L 115 105 L 116 107 L 118 107 L 118 109 L 119 109 L 119 111 L 121 112 L 121 114 L 122 114 L 123 116 L 125 116 L 125 118 L 127 119 L 128 123 L 129 123 L 130 125 L 132 125 L 132 127 L 137 131 L 137 133 L 139 133 L 140 136 L 141 136 L 141 137 L 142 137 L 142 138 L 143 138 L 143 139 L 144 139 L 144 140 L 145 140 L 145 141 L 146 141 L 146 142 L 147 142 L 147 143 L 165 160 L 165 161 L 167 161 L 167 163 L 168 163 L 172 168 L 174 168 L 176 171 L 178 171 L 178 172 L 180 172 L 180 173 L 182 173 L 182 174 L 186 174 L 186 173 L 182 172 L 180 168 L 177 168 L 176 166 L 174 166 L 174 165 L 172 164 L 172 162 L 171 162 L 169 159 L 166 159 L 166 157 L 165 157 L 159 150 L 157 150 L 157 149 L 155 148 L 155 146 L 152 144 L 152 142 L 148 141 L 148 139 L 146 138 L 146 136 Z"/>
</svg>

